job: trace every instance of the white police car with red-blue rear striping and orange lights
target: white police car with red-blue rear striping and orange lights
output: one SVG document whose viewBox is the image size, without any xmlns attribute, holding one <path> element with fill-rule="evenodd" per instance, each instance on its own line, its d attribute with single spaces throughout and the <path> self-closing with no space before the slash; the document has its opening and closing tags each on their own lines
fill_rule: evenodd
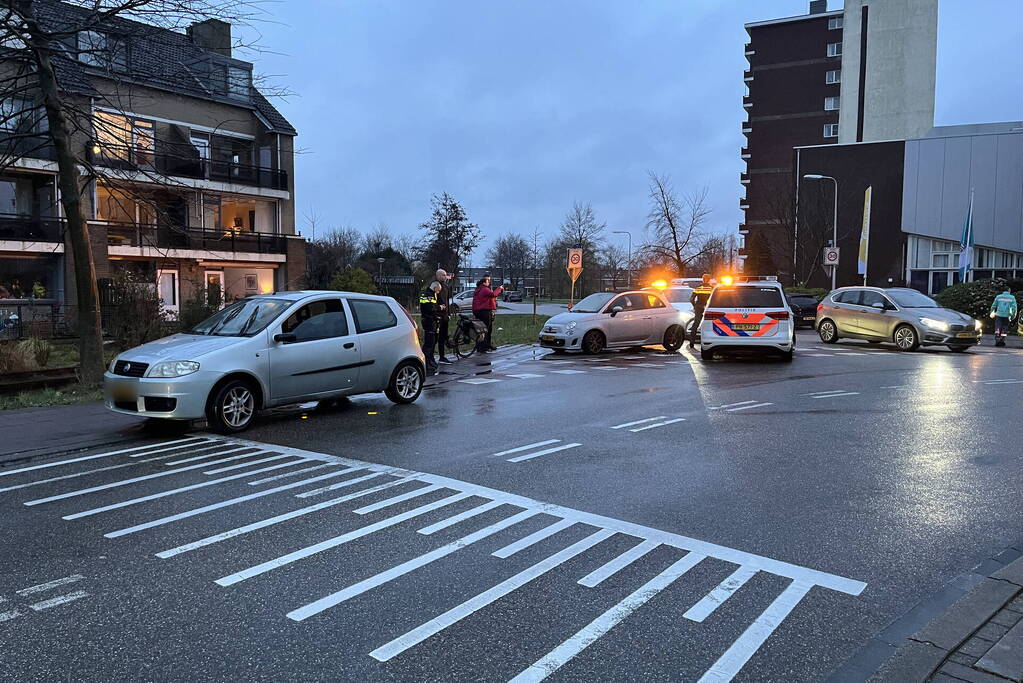
<svg viewBox="0 0 1023 683">
<path fill-rule="evenodd" d="M 700 334 L 704 360 L 719 351 L 747 351 L 781 355 L 791 361 L 796 347 L 792 310 L 782 285 L 773 280 L 716 286 L 704 311 Z"/>
</svg>

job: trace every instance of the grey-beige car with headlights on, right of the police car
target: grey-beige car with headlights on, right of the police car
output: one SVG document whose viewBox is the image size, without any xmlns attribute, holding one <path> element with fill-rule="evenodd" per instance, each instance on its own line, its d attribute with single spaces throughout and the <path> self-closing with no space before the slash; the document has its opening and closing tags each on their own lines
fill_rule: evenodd
<svg viewBox="0 0 1023 683">
<path fill-rule="evenodd" d="M 946 346 L 963 352 L 980 344 L 981 323 L 906 287 L 841 287 L 820 302 L 817 334 L 825 344 L 840 338 L 891 342 L 899 351 Z"/>
</svg>

